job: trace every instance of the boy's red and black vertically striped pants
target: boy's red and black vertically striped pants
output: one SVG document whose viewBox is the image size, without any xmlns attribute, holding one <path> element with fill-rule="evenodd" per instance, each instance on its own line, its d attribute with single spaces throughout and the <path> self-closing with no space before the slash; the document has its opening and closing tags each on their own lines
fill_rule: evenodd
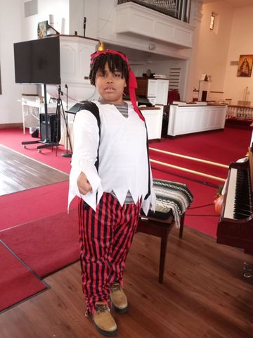
<svg viewBox="0 0 253 338">
<path fill-rule="evenodd" d="M 126 256 L 136 232 L 141 202 L 121 206 L 104 193 L 96 212 L 79 203 L 79 242 L 86 313 L 96 301 L 108 301 L 113 283 L 123 284 Z"/>
</svg>

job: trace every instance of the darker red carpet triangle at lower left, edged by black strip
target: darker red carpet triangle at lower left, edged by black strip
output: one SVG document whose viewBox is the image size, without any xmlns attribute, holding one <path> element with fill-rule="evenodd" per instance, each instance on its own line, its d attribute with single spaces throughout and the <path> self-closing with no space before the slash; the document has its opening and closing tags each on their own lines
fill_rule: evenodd
<svg viewBox="0 0 253 338">
<path fill-rule="evenodd" d="M 1 243 L 0 257 L 0 311 L 46 289 L 46 285 Z"/>
</svg>

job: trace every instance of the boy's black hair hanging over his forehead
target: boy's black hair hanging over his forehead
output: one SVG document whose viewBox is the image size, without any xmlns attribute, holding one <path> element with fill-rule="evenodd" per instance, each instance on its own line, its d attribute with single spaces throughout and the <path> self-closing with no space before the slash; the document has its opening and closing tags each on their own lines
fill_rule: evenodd
<svg viewBox="0 0 253 338">
<path fill-rule="evenodd" d="M 121 53 L 121 52 L 120 52 Z M 123 53 L 122 53 L 123 54 Z M 91 71 L 89 74 L 89 79 L 93 86 L 96 81 L 96 73 L 100 71 L 102 74 L 105 74 L 105 63 L 108 63 L 110 72 L 115 73 L 115 71 L 122 73 L 122 79 L 126 80 L 126 84 L 129 83 L 129 68 L 126 62 L 117 54 L 100 54 L 98 57 L 94 58 L 91 65 Z"/>
</svg>

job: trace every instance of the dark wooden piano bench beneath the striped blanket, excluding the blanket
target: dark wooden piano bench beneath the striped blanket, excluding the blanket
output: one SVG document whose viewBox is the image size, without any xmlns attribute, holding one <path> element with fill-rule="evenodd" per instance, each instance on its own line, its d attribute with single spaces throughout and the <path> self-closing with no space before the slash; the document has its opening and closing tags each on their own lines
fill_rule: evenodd
<svg viewBox="0 0 253 338">
<path fill-rule="evenodd" d="M 179 237 L 183 237 L 183 220 L 184 214 L 181 216 L 180 227 L 179 227 Z M 146 216 L 140 216 L 137 226 L 137 232 L 143 232 L 144 234 L 151 234 L 155 237 L 160 237 L 160 263 L 159 263 L 159 277 L 158 281 L 163 282 L 164 277 L 164 265 L 166 260 L 166 251 L 167 251 L 167 242 L 169 232 L 174 225 L 174 217 L 172 215 L 167 218 L 167 220 L 161 220 L 159 218 L 152 218 Z"/>
</svg>

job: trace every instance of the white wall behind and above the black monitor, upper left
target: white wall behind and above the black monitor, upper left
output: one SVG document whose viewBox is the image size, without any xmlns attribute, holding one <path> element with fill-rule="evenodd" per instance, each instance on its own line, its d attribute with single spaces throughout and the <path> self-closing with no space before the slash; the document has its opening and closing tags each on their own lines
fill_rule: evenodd
<svg viewBox="0 0 253 338">
<path fill-rule="evenodd" d="M 15 84 L 13 43 L 37 39 L 37 24 L 53 14 L 55 28 L 69 32 L 69 0 L 38 0 L 38 14 L 25 18 L 25 0 L 1 0 L 0 11 L 0 62 L 1 86 L 0 125 L 21 123 L 22 108 L 18 100 L 22 93 L 36 94 L 37 85 Z M 63 20 L 64 19 L 64 20 Z M 62 23 L 65 25 L 62 25 Z M 61 29 L 65 27 L 64 31 Z"/>
</svg>

